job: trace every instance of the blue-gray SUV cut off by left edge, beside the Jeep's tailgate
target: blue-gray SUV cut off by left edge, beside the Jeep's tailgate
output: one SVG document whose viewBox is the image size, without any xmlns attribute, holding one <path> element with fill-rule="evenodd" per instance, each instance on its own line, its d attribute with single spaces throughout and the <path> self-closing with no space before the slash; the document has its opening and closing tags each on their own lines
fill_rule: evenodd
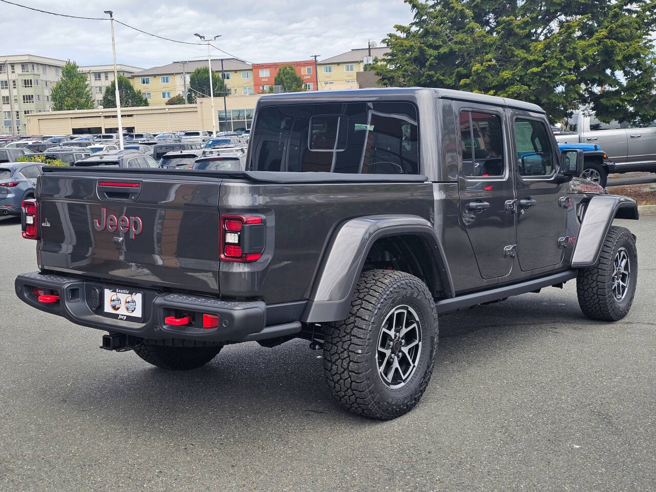
<svg viewBox="0 0 656 492">
<path fill-rule="evenodd" d="M 34 197 L 41 165 L 33 162 L 0 164 L 0 216 L 20 215 L 20 203 Z"/>
</svg>

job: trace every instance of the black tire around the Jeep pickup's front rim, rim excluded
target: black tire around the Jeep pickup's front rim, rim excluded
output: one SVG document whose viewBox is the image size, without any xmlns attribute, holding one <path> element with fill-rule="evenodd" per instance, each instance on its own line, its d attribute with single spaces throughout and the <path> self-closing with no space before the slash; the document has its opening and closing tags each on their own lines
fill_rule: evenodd
<svg viewBox="0 0 656 492">
<path fill-rule="evenodd" d="M 617 300 L 613 295 L 613 261 L 621 248 L 628 253 L 630 275 L 625 298 Z M 576 290 L 583 314 L 602 321 L 624 318 L 633 303 L 637 279 L 636 240 L 628 229 L 612 226 L 605 237 L 596 266 L 581 269 L 577 277 Z"/>
</svg>

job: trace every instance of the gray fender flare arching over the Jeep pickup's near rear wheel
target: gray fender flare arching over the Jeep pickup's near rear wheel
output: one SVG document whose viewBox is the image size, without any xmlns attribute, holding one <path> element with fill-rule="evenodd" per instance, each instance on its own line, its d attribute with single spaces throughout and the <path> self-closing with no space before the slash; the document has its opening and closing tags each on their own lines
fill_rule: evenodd
<svg viewBox="0 0 656 492">
<path fill-rule="evenodd" d="M 360 272 L 373 243 L 381 237 L 422 236 L 432 245 L 434 260 L 448 297 L 451 272 L 444 250 L 428 220 L 415 215 L 370 215 L 342 223 L 326 249 L 301 321 L 321 323 L 346 319 Z"/>
</svg>

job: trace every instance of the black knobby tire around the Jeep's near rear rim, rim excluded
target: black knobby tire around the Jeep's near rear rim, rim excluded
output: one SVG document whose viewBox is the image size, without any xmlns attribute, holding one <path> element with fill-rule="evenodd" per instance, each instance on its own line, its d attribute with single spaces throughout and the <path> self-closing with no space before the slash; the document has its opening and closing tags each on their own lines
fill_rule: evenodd
<svg viewBox="0 0 656 492">
<path fill-rule="evenodd" d="M 407 382 L 390 388 L 379 375 L 379 335 L 386 315 L 401 305 L 417 313 L 422 343 Z M 424 394 L 437 347 L 438 314 L 428 287 L 405 272 L 370 270 L 358 280 L 348 318 L 325 327 L 323 373 L 344 408 L 375 419 L 395 419 L 413 409 Z"/>
</svg>

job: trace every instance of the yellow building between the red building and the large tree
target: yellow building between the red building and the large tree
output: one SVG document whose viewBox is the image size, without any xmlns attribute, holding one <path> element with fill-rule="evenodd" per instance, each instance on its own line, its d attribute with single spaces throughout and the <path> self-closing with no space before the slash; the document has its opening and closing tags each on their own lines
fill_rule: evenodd
<svg viewBox="0 0 656 492">
<path fill-rule="evenodd" d="M 363 72 L 365 64 L 390 51 L 386 46 L 379 48 L 352 49 L 349 52 L 326 58 L 318 63 L 319 91 L 359 89 L 356 73 Z"/>
</svg>

